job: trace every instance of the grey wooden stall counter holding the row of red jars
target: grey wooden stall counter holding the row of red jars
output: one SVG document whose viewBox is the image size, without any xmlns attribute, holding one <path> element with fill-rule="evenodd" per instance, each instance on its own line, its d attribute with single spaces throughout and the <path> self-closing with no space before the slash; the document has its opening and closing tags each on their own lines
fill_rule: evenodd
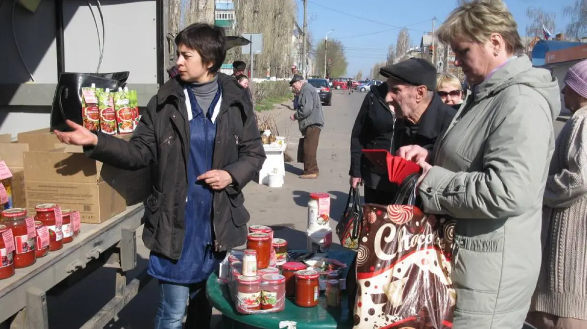
<svg viewBox="0 0 587 329">
<path fill-rule="evenodd" d="M 47 329 L 46 291 L 58 293 L 105 266 L 116 269 L 116 296 L 82 327 L 103 328 L 151 278 L 145 270 L 127 284 L 126 272 L 136 266 L 135 231 L 143 213 L 140 203 L 102 223 L 82 223 L 71 243 L 0 280 L 0 323 L 18 313 L 11 328 Z"/>
</svg>

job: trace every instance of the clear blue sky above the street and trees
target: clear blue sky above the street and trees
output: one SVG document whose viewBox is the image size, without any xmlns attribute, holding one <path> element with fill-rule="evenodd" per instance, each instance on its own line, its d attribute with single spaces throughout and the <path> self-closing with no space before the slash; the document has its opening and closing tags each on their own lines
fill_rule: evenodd
<svg viewBox="0 0 587 329">
<path fill-rule="evenodd" d="M 556 28 L 550 31 L 554 36 L 557 32 L 563 32 L 568 22 L 563 15 L 563 7 L 574 3 L 574 0 L 509 0 L 505 3 L 514 15 L 522 36 L 528 24 L 525 11 L 529 6 L 554 12 Z M 363 77 L 366 77 L 373 64 L 386 58 L 387 46 L 396 45 L 399 28 L 410 29 L 411 43 L 420 45 L 422 34 L 432 30 L 433 16 L 444 21 L 456 6 L 456 0 L 308 0 L 308 29 L 313 44 L 323 39 L 326 32 L 335 29 L 328 38 L 339 39 L 345 45 L 349 62 L 347 75 L 354 76 L 363 70 Z M 301 1 L 298 2 L 298 18 L 301 26 Z M 373 33 L 380 31 L 385 32 Z M 367 33 L 372 34 L 365 35 Z M 355 37 L 357 35 L 363 36 Z"/>
</svg>

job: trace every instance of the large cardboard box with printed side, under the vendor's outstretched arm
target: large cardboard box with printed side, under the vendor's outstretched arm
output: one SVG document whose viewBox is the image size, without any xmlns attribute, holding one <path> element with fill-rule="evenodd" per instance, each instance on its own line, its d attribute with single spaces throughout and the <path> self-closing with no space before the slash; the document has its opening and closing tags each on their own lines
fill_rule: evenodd
<svg viewBox="0 0 587 329">
<path fill-rule="evenodd" d="M 55 143 L 53 143 L 53 146 Z M 80 211 L 83 223 L 102 223 L 126 209 L 124 171 L 63 150 L 25 152 L 26 203 L 54 202 Z"/>
</svg>

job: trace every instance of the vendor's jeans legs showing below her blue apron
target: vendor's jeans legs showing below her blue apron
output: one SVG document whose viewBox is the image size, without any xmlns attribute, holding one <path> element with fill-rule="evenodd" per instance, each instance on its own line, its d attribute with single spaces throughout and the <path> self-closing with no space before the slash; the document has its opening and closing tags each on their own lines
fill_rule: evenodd
<svg viewBox="0 0 587 329">
<path fill-rule="evenodd" d="M 212 306 L 206 297 L 205 287 L 206 281 L 178 284 L 160 280 L 155 329 L 181 329 L 186 314 L 185 329 L 210 328 Z"/>
</svg>

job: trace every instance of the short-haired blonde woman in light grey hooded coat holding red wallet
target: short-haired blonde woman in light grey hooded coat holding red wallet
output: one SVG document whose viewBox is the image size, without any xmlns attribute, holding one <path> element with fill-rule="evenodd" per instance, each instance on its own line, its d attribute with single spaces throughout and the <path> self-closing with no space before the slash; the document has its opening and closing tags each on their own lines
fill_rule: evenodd
<svg viewBox="0 0 587 329">
<path fill-rule="evenodd" d="M 454 329 L 518 329 L 524 324 L 541 260 L 542 195 L 554 151 L 556 80 L 521 53 L 518 26 L 501 0 L 455 9 L 438 39 L 456 54 L 472 91 L 419 162 L 424 211 L 456 219 L 451 279 Z"/>
</svg>

